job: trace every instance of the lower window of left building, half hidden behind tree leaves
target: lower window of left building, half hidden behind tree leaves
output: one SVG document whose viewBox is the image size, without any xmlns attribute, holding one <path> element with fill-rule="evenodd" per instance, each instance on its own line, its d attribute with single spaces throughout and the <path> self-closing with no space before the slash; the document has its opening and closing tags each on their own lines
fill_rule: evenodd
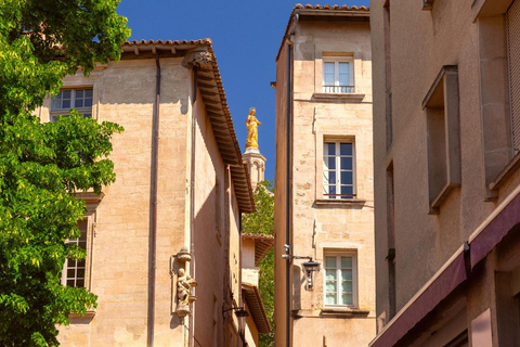
<svg viewBox="0 0 520 347">
<path fill-rule="evenodd" d="M 87 240 L 89 233 L 89 221 L 83 219 L 78 221 L 78 228 L 81 235 L 78 239 L 68 240 L 67 243 L 76 244 L 87 250 Z M 89 257 L 89 254 L 87 254 Z M 87 257 L 81 260 L 65 259 L 62 273 L 62 284 L 67 286 L 82 287 L 87 283 Z"/>
</svg>

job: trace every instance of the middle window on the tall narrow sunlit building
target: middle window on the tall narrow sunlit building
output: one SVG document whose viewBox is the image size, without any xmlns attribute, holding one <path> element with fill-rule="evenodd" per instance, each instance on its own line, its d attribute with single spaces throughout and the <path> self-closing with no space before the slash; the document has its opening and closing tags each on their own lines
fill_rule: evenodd
<svg viewBox="0 0 520 347">
<path fill-rule="evenodd" d="M 354 194 L 354 144 L 325 142 L 323 144 L 323 196 L 352 198 Z"/>
</svg>

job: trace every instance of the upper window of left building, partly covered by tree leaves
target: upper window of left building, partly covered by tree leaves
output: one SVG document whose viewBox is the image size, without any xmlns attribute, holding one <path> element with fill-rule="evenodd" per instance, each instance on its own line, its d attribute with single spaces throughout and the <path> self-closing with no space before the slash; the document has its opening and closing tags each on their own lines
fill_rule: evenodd
<svg viewBox="0 0 520 347">
<path fill-rule="evenodd" d="M 61 90 L 51 103 L 51 121 L 57 116 L 68 116 L 70 108 L 78 111 L 83 118 L 92 118 L 92 88 L 64 89 Z"/>
</svg>

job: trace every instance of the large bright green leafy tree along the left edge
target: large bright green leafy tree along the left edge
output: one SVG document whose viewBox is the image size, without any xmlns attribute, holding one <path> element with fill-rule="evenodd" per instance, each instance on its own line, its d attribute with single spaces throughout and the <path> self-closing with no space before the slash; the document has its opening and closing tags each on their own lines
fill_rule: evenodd
<svg viewBox="0 0 520 347">
<path fill-rule="evenodd" d="M 0 0 L 0 346 L 57 346 L 56 324 L 95 307 L 61 285 L 66 244 L 80 235 L 84 203 L 115 180 L 110 139 L 122 128 L 77 112 L 41 124 L 32 115 L 62 79 L 118 60 L 130 35 L 118 0 Z"/>
</svg>

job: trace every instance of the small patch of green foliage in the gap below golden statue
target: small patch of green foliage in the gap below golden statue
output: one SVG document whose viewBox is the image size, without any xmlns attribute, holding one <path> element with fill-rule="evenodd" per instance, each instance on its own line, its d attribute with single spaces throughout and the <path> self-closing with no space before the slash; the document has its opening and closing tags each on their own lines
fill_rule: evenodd
<svg viewBox="0 0 520 347">
<path fill-rule="evenodd" d="M 255 191 L 257 211 L 243 215 L 242 226 L 245 233 L 274 235 L 274 185 L 273 181 L 262 181 Z M 259 291 L 272 331 L 260 334 L 260 346 L 274 346 L 274 249 L 260 261 Z"/>
</svg>

